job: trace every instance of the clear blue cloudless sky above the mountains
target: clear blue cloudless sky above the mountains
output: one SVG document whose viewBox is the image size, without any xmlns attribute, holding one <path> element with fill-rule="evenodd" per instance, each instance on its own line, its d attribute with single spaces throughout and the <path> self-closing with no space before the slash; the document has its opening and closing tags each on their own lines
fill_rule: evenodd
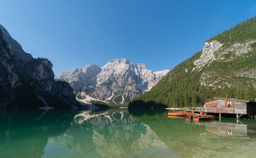
<svg viewBox="0 0 256 158">
<path fill-rule="evenodd" d="M 256 1 L 0 1 L 0 24 L 55 74 L 127 58 L 171 70 L 204 42 L 256 16 Z"/>
</svg>

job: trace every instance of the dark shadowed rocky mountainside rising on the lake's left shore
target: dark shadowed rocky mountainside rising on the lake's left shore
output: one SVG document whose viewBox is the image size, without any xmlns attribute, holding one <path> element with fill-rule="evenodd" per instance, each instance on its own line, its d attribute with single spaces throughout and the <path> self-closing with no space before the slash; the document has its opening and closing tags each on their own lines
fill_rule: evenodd
<svg viewBox="0 0 256 158">
<path fill-rule="evenodd" d="M 0 72 L 0 111 L 81 106 L 68 83 L 54 80 L 52 63 L 48 59 L 34 59 L 26 53 L 2 25 Z"/>
</svg>

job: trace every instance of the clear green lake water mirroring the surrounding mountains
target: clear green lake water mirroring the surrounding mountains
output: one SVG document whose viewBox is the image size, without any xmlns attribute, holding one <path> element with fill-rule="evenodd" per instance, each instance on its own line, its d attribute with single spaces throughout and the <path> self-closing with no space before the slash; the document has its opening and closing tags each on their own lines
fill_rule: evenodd
<svg viewBox="0 0 256 158">
<path fill-rule="evenodd" d="M 167 110 L 0 113 L 0 157 L 255 157 L 256 121 Z"/>
</svg>

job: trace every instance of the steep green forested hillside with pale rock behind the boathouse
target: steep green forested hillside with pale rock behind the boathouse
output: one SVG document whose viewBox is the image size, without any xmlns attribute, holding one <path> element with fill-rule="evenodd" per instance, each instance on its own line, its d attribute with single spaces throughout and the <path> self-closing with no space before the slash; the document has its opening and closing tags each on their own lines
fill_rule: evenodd
<svg viewBox="0 0 256 158">
<path fill-rule="evenodd" d="M 200 106 L 214 97 L 255 100 L 256 17 L 207 40 L 129 108 Z M 201 103 L 201 104 L 200 104 Z"/>
</svg>

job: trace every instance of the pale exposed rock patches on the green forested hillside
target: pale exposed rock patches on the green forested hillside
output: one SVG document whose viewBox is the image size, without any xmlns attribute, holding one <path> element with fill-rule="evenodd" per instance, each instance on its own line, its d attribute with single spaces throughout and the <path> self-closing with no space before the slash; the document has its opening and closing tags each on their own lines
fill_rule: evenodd
<svg viewBox="0 0 256 158">
<path fill-rule="evenodd" d="M 194 61 L 195 67 L 192 69 L 191 72 L 196 71 L 199 72 L 205 68 L 205 66 L 209 67 L 210 64 L 214 61 L 217 61 L 218 63 L 225 64 L 226 62 L 235 60 L 237 58 L 251 58 L 252 55 L 245 55 L 249 52 L 253 52 L 253 48 L 251 44 L 255 43 L 255 39 L 248 39 L 243 42 L 235 42 L 233 44 L 224 44 L 220 43 L 217 40 L 213 41 L 206 41 L 205 46 L 203 47 L 202 54 L 199 59 Z M 226 64 L 227 66 L 230 66 L 229 64 Z M 219 85 L 219 82 L 221 80 L 228 80 L 231 82 L 226 82 L 228 86 L 236 85 L 236 83 L 232 82 L 231 79 L 234 79 L 234 76 L 242 76 L 242 77 L 248 77 L 248 78 L 256 78 L 255 67 L 244 67 L 241 70 L 238 71 L 230 71 L 229 75 L 222 75 L 219 79 L 213 80 L 213 78 L 216 78 L 216 72 L 221 72 L 221 70 L 214 70 L 214 71 L 205 71 L 202 72 L 200 82 L 201 85 L 217 85 L 218 87 L 221 87 Z M 218 76 L 219 77 L 219 76 Z M 249 79 L 250 80 L 250 79 Z"/>
</svg>

